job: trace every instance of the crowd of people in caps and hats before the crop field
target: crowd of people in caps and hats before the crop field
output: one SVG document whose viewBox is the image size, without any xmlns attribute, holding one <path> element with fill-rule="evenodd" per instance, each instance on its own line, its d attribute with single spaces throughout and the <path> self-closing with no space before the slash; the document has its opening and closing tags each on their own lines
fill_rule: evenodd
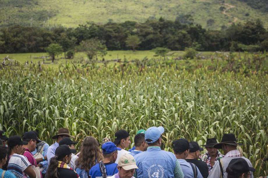
<svg viewBox="0 0 268 178">
<path fill-rule="evenodd" d="M 131 144 L 126 130 L 115 140 L 87 136 L 78 142 L 67 128 L 61 128 L 48 145 L 38 132 L 10 136 L 0 131 L 1 178 L 253 178 L 255 169 L 243 156 L 234 134 L 224 134 L 220 143 L 209 138 L 205 145 L 180 138 L 172 142 L 173 152 L 161 149 L 162 126 L 139 130 Z M 223 152 L 221 153 L 220 150 Z"/>
</svg>

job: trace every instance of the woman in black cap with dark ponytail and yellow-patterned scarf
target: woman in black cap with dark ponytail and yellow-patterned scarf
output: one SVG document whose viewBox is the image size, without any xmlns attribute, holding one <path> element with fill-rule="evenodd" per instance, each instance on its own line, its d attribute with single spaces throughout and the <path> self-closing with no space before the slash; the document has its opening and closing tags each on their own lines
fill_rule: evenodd
<svg viewBox="0 0 268 178">
<path fill-rule="evenodd" d="M 68 166 L 72 152 L 75 150 L 71 150 L 68 145 L 60 145 L 55 151 L 55 157 L 50 159 L 46 178 L 79 178 L 79 175 Z"/>
</svg>

